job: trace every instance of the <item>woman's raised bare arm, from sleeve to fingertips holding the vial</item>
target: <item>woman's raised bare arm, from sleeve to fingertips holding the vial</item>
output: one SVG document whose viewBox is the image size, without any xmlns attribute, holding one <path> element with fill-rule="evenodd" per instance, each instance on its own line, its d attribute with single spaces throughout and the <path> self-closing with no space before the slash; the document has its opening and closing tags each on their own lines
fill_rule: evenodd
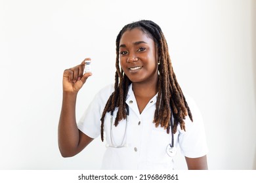
<svg viewBox="0 0 256 183">
<path fill-rule="evenodd" d="M 93 141 L 77 128 L 75 120 L 77 93 L 92 75 L 91 73 L 83 75 L 84 67 L 85 61 L 76 67 L 66 69 L 63 74 L 63 99 L 58 124 L 58 146 L 63 157 L 75 156 Z"/>
</svg>

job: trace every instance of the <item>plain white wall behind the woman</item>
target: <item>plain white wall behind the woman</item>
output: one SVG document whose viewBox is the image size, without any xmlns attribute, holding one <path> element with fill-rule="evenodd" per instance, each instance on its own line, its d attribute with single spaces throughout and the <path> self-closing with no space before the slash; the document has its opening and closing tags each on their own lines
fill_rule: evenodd
<svg viewBox="0 0 256 183">
<path fill-rule="evenodd" d="M 114 82 L 117 33 L 141 19 L 162 28 L 182 90 L 202 111 L 209 169 L 256 169 L 255 11 L 254 0 L 1 0 L 0 169 L 100 168 L 100 139 L 60 156 L 62 73 L 93 59 L 79 119 Z M 177 169 L 186 169 L 181 156 Z"/>
</svg>

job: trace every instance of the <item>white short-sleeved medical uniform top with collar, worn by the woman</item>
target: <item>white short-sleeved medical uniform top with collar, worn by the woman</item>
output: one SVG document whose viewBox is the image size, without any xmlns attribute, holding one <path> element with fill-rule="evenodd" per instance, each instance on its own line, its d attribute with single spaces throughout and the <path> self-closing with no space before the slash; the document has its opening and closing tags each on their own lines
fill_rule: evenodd
<svg viewBox="0 0 256 183">
<path fill-rule="evenodd" d="M 100 136 L 100 118 L 106 105 L 106 101 L 114 92 L 114 85 L 109 85 L 100 90 L 85 111 L 78 123 L 78 128 L 95 139 Z M 126 120 L 121 120 L 114 126 L 117 108 L 114 111 L 112 126 L 112 141 L 110 139 L 110 112 L 104 118 L 104 142 L 106 152 L 104 154 L 102 169 L 173 169 L 173 158 L 167 155 L 166 148 L 171 143 L 171 133 L 167 134 L 163 127 L 156 127 L 153 123 L 156 110 L 155 95 L 140 114 L 137 101 L 129 87 L 126 103 L 129 106 L 129 120 L 127 121 L 127 135 L 122 148 L 113 148 L 123 141 Z M 193 116 L 193 122 L 187 116 L 186 132 L 178 125 L 174 135 L 175 147 L 181 149 L 181 154 L 188 158 L 199 158 L 207 154 L 205 131 L 202 117 L 196 104 L 190 97 L 186 101 Z M 114 142 L 115 144 L 112 144 Z"/>
</svg>

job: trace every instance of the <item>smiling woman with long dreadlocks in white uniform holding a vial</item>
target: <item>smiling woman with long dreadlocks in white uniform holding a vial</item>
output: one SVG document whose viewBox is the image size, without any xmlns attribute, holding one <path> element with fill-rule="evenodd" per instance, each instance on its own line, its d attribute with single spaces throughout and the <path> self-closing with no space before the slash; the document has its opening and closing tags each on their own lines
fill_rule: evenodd
<svg viewBox="0 0 256 183">
<path fill-rule="evenodd" d="M 83 74 L 90 58 L 64 71 L 58 127 L 62 156 L 78 154 L 101 135 L 106 141 L 102 169 L 173 169 L 178 146 L 188 169 L 207 169 L 202 118 L 182 93 L 161 28 L 149 20 L 125 25 L 117 35 L 116 54 L 115 84 L 96 94 L 78 125 L 75 101 L 92 75 Z"/>
</svg>

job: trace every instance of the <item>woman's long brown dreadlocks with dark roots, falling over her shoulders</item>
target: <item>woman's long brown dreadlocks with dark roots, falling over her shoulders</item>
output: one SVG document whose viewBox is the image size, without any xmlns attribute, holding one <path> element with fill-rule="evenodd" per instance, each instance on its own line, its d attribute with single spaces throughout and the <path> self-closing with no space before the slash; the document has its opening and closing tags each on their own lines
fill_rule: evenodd
<svg viewBox="0 0 256 183">
<path fill-rule="evenodd" d="M 126 119 L 125 100 L 131 80 L 123 73 L 123 70 L 119 67 L 119 43 L 120 39 L 125 33 L 131 29 L 138 28 L 143 31 L 148 37 L 154 40 L 158 49 L 158 98 L 156 101 L 156 110 L 154 114 L 154 123 L 156 127 L 159 125 L 167 129 L 167 133 L 170 131 L 170 119 L 173 115 L 173 133 L 177 132 L 177 125 L 181 125 L 181 129 L 185 130 L 184 119 L 188 115 L 190 120 L 192 114 L 190 108 L 186 103 L 186 99 L 182 93 L 181 87 L 177 82 L 177 78 L 173 71 L 171 59 L 169 56 L 167 42 L 161 31 L 161 28 L 156 23 L 150 20 L 140 20 L 127 24 L 121 29 L 116 38 L 116 76 L 114 92 L 110 95 L 104 111 L 102 112 L 101 121 L 101 140 L 104 141 L 104 118 L 106 112 L 114 111 L 117 107 L 117 115 L 114 125 L 118 125 L 119 121 Z"/>
</svg>

